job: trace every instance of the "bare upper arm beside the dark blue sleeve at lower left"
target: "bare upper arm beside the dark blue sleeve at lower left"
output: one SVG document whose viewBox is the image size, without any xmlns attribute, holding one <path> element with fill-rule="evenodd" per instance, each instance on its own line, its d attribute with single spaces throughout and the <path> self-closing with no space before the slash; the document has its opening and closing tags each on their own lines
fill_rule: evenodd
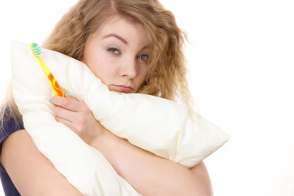
<svg viewBox="0 0 294 196">
<path fill-rule="evenodd" d="M 0 161 L 22 196 L 82 196 L 38 150 L 25 130 L 4 140 Z"/>
</svg>

